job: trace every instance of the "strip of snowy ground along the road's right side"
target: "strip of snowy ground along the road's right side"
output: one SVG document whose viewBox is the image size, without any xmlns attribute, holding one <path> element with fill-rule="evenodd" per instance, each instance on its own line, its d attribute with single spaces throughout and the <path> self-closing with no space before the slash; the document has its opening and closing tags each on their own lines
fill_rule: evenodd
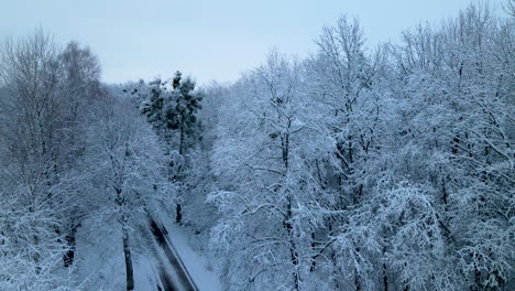
<svg viewBox="0 0 515 291">
<path fill-rule="evenodd" d="M 164 215 L 163 215 L 164 216 Z M 161 222 L 168 230 L 168 238 L 177 250 L 184 266 L 200 291 L 222 290 L 218 274 L 210 267 L 205 254 L 199 254 L 191 248 L 191 235 L 187 229 L 174 224 L 169 217 L 161 217 Z"/>
</svg>

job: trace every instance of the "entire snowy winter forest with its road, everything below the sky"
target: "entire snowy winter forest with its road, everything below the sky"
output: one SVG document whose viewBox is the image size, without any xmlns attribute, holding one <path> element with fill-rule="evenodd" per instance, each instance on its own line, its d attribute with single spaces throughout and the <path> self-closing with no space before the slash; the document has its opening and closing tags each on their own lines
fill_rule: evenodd
<svg viewBox="0 0 515 291">
<path fill-rule="evenodd" d="M 3 40 L 0 290 L 515 290 L 514 3 L 201 86 Z"/>
</svg>

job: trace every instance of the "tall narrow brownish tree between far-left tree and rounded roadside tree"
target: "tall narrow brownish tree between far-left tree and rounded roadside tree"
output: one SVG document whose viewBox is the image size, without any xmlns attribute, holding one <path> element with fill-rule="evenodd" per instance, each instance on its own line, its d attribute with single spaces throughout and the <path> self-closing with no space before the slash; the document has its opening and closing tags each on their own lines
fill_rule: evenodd
<svg viewBox="0 0 515 291">
<path fill-rule="evenodd" d="M 89 211 L 87 194 L 85 193 L 84 150 L 86 143 L 86 129 L 89 126 L 89 116 L 86 114 L 92 101 L 105 98 L 106 93 L 100 86 L 100 64 L 89 47 L 83 47 L 77 42 L 69 42 L 58 55 L 61 65 L 59 94 L 64 110 L 63 142 L 66 144 L 62 151 L 65 154 L 61 170 L 70 173 L 66 175 L 70 186 L 67 201 L 68 207 L 62 219 L 66 242 L 69 250 L 64 257 L 65 266 L 74 262 L 75 236 L 77 227 Z"/>
</svg>

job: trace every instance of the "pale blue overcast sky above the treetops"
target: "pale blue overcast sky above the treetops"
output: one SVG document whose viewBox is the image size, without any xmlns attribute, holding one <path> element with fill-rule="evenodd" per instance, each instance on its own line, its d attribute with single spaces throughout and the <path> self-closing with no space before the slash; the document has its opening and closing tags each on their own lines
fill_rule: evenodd
<svg viewBox="0 0 515 291">
<path fill-rule="evenodd" d="M 501 2 L 501 0 L 490 0 Z M 0 0 L 0 37 L 42 26 L 99 56 L 102 79 L 168 78 L 177 69 L 205 84 L 234 80 L 266 52 L 305 56 L 324 25 L 358 17 L 369 46 L 398 40 L 419 22 L 457 15 L 470 0 Z"/>
</svg>

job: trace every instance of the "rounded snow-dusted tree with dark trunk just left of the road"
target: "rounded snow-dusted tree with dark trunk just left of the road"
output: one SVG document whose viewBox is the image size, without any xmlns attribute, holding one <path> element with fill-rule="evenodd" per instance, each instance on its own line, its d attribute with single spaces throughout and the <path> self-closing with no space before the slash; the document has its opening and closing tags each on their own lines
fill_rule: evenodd
<svg viewBox="0 0 515 291">
<path fill-rule="evenodd" d="M 131 233 L 147 225 L 161 205 L 169 205 L 174 192 L 156 136 L 132 106 L 110 97 L 92 115 L 87 162 L 95 173 L 91 185 L 101 193 L 97 215 L 121 227 L 127 290 L 133 290 Z"/>
</svg>

